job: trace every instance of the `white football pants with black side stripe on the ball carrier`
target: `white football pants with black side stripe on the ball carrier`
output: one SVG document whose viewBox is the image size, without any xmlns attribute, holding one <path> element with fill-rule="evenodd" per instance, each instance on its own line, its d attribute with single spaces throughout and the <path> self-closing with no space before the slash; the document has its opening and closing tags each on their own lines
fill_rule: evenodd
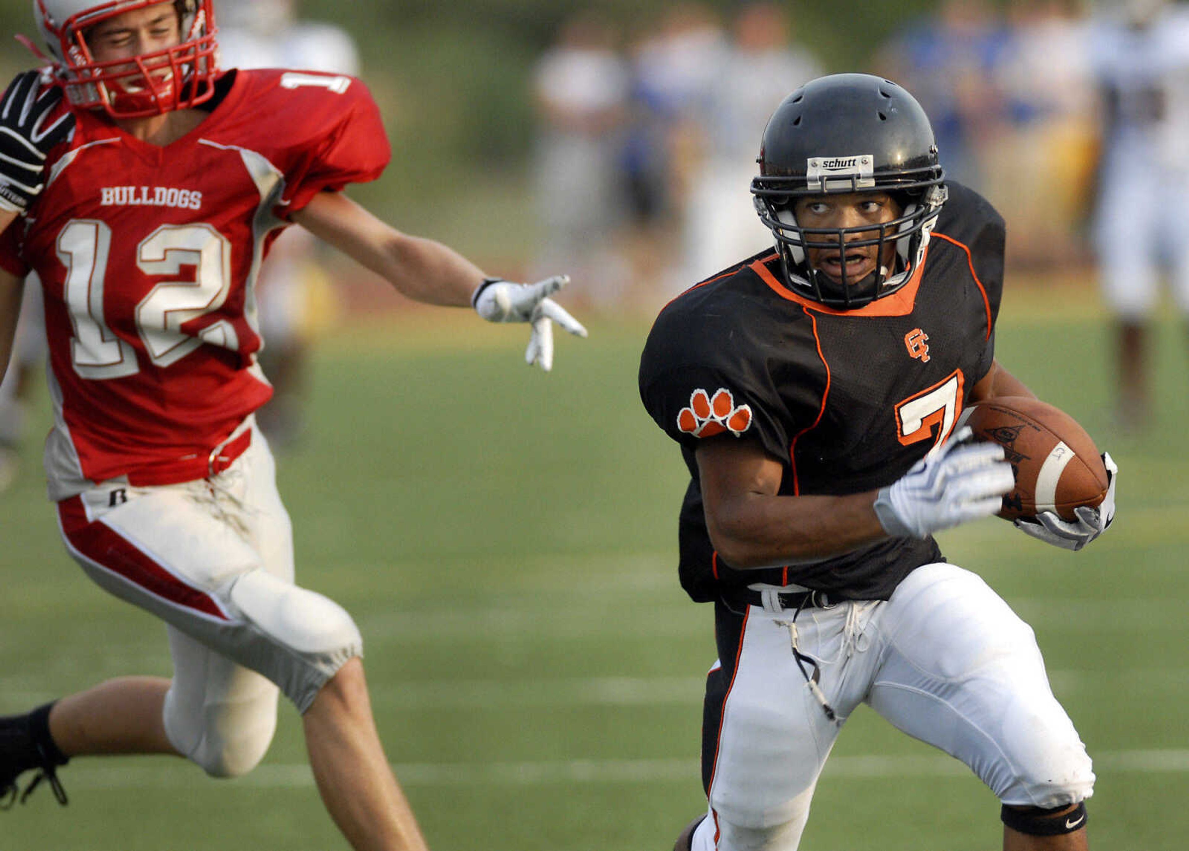
<svg viewBox="0 0 1189 851">
<path fill-rule="evenodd" d="M 926 565 L 891 600 L 806 607 L 795 626 L 792 611 L 760 606 L 719 616 L 719 648 L 725 629 L 737 653 L 707 680 L 711 818 L 693 851 L 797 849 L 818 775 L 860 704 L 964 762 L 1004 803 L 1051 808 L 1093 792 L 1090 759 L 1032 629 L 973 573 Z M 794 629 L 837 723 L 798 668 Z"/>
</svg>

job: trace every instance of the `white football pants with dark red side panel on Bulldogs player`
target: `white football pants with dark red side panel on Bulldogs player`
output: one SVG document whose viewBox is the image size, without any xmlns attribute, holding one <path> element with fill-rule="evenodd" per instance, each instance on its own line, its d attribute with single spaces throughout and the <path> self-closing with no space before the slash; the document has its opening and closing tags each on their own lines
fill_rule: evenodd
<svg viewBox="0 0 1189 851">
<path fill-rule="evenodd" d="M 294 585 L 292 529 L 268 442 L 222 473 L 158 487 L 103 483 L 58 504 L 70 554 L 103 590 L 166 624 L 165 732 L 208 774 L 253 768 L 277 687 L 304 712 L 363 639 L 335 603 Z"/>
</svg>

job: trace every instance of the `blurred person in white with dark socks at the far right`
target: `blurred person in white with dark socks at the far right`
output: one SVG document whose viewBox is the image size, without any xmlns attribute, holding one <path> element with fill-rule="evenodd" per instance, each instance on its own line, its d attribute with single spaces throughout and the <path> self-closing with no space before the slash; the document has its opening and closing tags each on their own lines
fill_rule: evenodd
<svg viewBox="0 0 1189 851">
<path fill-rule="evenodd" d="M 1102 11 L 1093 30 L 1102 112 L 1095 247 L 1113 316 L 1116 421 L 1151 418 L 1151 321 L 1160 276 L 1189 321 L 1189 233 L 1171 210 L 1189 191 L 1189 11 L 1130 0 Z"/>
</svg>

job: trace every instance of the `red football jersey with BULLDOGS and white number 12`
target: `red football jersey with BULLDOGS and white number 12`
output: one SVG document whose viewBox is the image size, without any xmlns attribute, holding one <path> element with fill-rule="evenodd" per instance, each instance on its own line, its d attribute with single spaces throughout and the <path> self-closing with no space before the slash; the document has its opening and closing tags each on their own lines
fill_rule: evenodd
<svg viewBox="0 0 1189 851">
<path fill-rule="evenodd" d="M 388 138 L 352 77 L 253 70 L 165 147 L 77 113 L 46 188 L 0 238 L 0 266 L 45 292 L 55 428 L 50 497 L 127 475 L 202 478 L 264 404 L 254 283 L 272 239 L 317 193 L 377 178 Z"/>
</svg>

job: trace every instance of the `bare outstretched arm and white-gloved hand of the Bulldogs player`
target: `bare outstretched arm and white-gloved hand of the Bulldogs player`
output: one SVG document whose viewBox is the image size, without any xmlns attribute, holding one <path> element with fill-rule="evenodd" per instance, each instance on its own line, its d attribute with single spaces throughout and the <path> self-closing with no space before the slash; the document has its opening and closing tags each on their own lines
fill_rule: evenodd
<svg viewBox="0 0 1189 851">
<path fill-rule="evenodd" d="M 453 248 L 402 233 L 341 193 L 322 193 L 294 221 L 380 275 L 400 292 L 443 307 L 472 305 L 489 322 L 528 322 L 531 336 L 524 358 L 543 370 L 553 366 L 553 323 L 571 334 L 586 329 L 549 298 L 568 278 L 555 276 L 517 284 L 484 275 Z"/>
</svg>

